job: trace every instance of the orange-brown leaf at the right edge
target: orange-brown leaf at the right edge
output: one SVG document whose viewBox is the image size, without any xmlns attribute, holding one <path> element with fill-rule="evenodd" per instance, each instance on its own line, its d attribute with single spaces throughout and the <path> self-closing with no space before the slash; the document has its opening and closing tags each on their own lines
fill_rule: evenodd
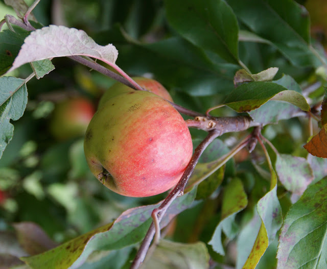
<svg viewBox="0 0 327 269">
<path fill-rule="evenodd" d="M 323 127 L 320 132 L 304 145 L 304 148 L 313 156 L 327 158 L 327 127 Z"/>
</svg>

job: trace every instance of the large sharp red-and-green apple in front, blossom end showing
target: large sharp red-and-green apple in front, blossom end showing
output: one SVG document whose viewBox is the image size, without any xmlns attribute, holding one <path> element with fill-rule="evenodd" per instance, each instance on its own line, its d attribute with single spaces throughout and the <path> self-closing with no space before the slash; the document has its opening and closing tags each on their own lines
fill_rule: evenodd
<svg viewBox="0 0 327 269">
<path fill-rule="evenodd" d="M 148 197 L 177 184 L 193 144 L 171 104 L 151 92 L 133 90 L 112 97 L 96 112 L 84 153 L 91 172 L 106 187 L 129 197 Z"/>
</svg>

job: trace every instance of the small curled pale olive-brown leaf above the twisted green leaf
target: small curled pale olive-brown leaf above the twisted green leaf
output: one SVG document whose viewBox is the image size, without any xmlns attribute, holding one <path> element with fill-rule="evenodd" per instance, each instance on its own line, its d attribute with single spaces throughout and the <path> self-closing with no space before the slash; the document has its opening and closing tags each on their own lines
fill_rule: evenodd
<svg viewBox="0 0 327 269">
<path fill-rule="evenodd" d="M 249 74 L 245 69 L 238 70 L 234 76 L 234 85 L 239 86 L 244 82 L 272 81 L 278 72 L 278 67 L 270 67 L 258 74 Z"/>
</svg>

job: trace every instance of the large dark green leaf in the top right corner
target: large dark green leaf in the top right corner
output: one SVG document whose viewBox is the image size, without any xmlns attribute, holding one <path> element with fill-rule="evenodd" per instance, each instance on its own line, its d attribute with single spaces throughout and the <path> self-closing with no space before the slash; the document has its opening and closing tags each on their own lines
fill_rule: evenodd
<svg viewBox="0 0 327 269">
<path fill-rule="evenodd" d="M 273 44 L 294 65 L 320 66 L 311 51 L 309 13 L 292 0 L 226 0 L 237 17 L 255 34 L 254 42 Z M 276 31 L 278 29 L 278 31 Z M 257 36 L 257 38 L 254 38 Z M 249 40 L 249 35 L 247 35 Z M 261 39 L 261 40 L 259 40 Z"/>
</svg>

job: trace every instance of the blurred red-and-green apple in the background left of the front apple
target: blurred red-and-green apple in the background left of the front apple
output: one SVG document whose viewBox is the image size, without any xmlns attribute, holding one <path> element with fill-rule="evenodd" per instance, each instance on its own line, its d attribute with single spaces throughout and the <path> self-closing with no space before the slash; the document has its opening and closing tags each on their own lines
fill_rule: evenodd
<svg viewBox="0 0 327 269">
<path fill-rule="evenodd" d="M 52 113 L 50 132 L 58 140 L 83 136 L 95 112 L 95 106 L 84 97 L 61 101 Z"/>
</svg>

